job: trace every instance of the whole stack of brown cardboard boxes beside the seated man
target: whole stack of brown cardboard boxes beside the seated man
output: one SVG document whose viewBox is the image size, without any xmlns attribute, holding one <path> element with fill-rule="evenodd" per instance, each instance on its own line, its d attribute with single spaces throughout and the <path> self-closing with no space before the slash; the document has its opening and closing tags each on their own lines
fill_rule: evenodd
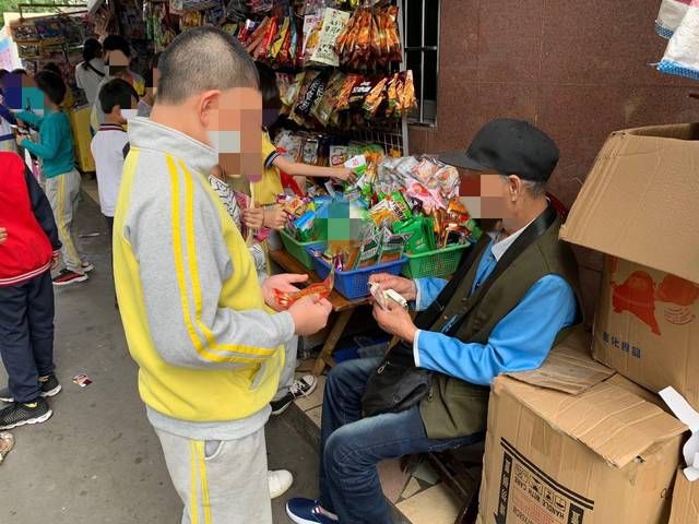
<svg viewBox="0 0 699 524">
<path fill-rule="evenodd" d="M 699 523 L 687 428 L 654 394 L 699 410 L 698 203 L 699 124 L 607 140 L 560 233 L 605 254 L 592 343 L 496 380 L 481 524 Z"/>
</svg>

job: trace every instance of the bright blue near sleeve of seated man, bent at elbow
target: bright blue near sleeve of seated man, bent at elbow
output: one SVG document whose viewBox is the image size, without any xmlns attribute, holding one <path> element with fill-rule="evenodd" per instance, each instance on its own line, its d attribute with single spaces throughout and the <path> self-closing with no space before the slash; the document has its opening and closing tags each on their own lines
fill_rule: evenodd
<svg viewBox="0 0 699 524">
<path fill-rule="evenodd" d="M 500 373 L 538 368 L 558 332 L 572 325 L 577 315 L 578 302 L 570 285 L 557 275 L 546 275 L 496 324 L 487 344 L 418 331 L 413 344 L 415 365 L 489 385 Z"/>
</svg>

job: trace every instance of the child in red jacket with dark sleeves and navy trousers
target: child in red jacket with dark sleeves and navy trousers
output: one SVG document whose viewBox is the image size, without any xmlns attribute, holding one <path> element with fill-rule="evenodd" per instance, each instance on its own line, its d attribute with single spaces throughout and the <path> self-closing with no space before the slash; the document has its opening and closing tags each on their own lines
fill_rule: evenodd
<svg viewBox="0 0 699 524">
<path fill-rule="evenodd" d="M 51 267 L 61 242 L 51 207 L 16 153 L 0 153 L 0 356 L 8 388 L 0 430 L 44 422 L 61 386 L 54 374 Z"/>
</svg>

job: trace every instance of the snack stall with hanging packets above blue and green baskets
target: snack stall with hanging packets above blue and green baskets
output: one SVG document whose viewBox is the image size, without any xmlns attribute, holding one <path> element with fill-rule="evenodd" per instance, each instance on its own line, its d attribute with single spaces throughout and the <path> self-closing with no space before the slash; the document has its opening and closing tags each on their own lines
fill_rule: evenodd
<svg viewBox="0 0 699 524">
<path fill-rule="evenodd" d="M 335 364 L 339 340 L 370 296 L 405 305 L 371 289 L 372 274 L 449 276 L 481 230 L 459 201 L 458 171 L 406 156 L 406 116 L 416 99 L 412 71 L 404 69 L 402 2 L 247 7 L 245 21 L 224 27 L 276 72 L 282 118 L 271 132 L 277 151 L 304 164 L 344 166 L 357 177 L 287 188 L 276 203 L 288 222 L 284 249 L 270 257 L 284 271 L 308 273 L 313 291 L 327 295 L 336 313 L 313 368 L 319 374 Z M 185 20 L 196 25 L 206 13 Z"/>
</svg>

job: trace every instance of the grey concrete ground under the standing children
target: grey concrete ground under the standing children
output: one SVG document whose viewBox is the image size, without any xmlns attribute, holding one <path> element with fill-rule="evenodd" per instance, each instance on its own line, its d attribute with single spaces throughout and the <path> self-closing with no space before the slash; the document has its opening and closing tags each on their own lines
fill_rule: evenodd
<svg viewBox="0 0 699 524">
<path fill-rule="evenodd" d="M 16 444 L 0 465 L 0 523 L 179 523 L 181 503 L 159 443 L 145 418 L 114 307 L 105 226 L 97 206 L 80 207 L 78 233 L 95 271 L 56 293 L 56 362 L 63 391 L 46 424 L 13 430 Z M 86 373 L 93 383 L 71 382 Z M 5 383 L 0 366 L 0 383 Z M 318 457 L 283 415 L 266 427 L 271 468 L 294 473 L 287 495 L 316 495 Z M 291 521 L 285 498 L 273 502 L 275 524 Z M 253 523 L 250 523 L 253 524 Z"/>
</svg>

